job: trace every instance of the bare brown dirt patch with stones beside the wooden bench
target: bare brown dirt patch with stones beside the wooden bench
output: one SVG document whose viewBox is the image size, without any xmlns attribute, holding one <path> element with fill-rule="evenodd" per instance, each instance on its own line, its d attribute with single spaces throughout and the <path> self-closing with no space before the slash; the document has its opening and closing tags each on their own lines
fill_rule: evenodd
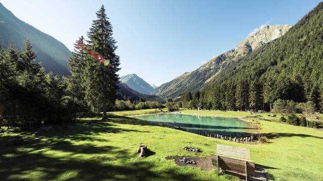
<svg viewBox="0 0 323 181">
<path fill-rule="evenodd" d="M 180 162 L 183 158 L 187 158 L 189 160 L 194 160 L 196 164 L 187 164 L 185 162 Z M 216 169 L 216 166 L 212 165 L 211 156 L 206 156 L 205 158 L 200 157 L 191 157 L 191 156 L 167 156 L 167 160 L 174 159 L 176 164 L 179 166 L 193 166 L 202 168 L 205 171 L 212 171 L 212 169 Z"/>
</svg>

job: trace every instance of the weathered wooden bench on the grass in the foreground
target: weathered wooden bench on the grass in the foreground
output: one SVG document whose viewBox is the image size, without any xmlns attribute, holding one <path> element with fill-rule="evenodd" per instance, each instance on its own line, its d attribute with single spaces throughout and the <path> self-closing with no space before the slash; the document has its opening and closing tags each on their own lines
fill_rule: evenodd
<svg viewBox="0 0 323 181">
<path fill-rule="evenodd" d="M 217 145 L 217 155 L 212 155 L 212 164 L 218 167 L 218 175 L 221 170 L 238 176 L 244 176 L 246 180 L 254 178 L 255 163 L 250 160 L 250 149 L 228 145 Z M 262 180 L 262 179 L 260 179 Z"/>
</svg>

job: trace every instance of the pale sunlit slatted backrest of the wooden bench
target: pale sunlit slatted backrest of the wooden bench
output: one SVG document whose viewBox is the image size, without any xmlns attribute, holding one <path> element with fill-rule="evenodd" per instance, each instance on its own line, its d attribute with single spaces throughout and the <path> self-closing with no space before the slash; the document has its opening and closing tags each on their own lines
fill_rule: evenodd
<svg viewBox="0 0 323 181">
<path fill-rule="evenodd" d="M 218 144 L 217 155 L 229 158 L 250 160 L 250 149 Z"/>
</svg>

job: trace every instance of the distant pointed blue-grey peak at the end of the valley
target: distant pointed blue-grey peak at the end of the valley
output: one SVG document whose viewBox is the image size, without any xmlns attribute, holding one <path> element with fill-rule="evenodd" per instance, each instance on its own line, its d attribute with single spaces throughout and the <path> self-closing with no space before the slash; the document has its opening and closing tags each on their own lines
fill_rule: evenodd
<svg viewBox="0 0 323 181">
<path fill-rule="evenodd" d="M 154 90 L 154 88 L 150 86 L 149 83 L 147 83 L 135 73 L 120 77 L 120 81 L 126 83 L 130 88 L 142 94 L 150 95 Z"/>
</svg>

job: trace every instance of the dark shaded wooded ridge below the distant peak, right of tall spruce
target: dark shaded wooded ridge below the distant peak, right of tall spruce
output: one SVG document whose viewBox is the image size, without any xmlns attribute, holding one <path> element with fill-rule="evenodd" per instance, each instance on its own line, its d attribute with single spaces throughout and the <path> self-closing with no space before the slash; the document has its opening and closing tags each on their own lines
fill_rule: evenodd
<svg viewBox="0 0 323 181">
<path fill-rule="evenodd" d="M 146 101 L 160 101 L 162 102 L 163 100 L 158 98 L 157 96 L 154 95 L 145 95 L 138 93 L 134 89 L 130 88 L 127 84 L 120 82 L 118 83 L 119 89 L 117 93 L 117 97 L 119 100 L 130 100 L 130 101 L 139 101 L 141 99 L 145 99 Z"/>
</svg>

